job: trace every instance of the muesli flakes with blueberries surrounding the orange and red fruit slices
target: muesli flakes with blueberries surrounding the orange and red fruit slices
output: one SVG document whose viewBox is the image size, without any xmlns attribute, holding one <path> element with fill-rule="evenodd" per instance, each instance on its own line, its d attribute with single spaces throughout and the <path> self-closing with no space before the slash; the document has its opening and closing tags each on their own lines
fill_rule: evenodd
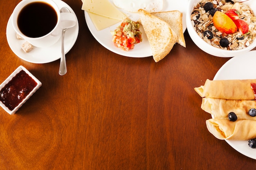
<svg viewBox="0 0 256 170">
<path fill-rule="evenodd" d="M 213 4 L 211 10 L 204 9 L 207 8 L 204 7 L 204 4 L 207 2 Z M 246 34 L 242 34 L 239 31 L 232 34 L 223 33 L 213 25 L 213 15 L 216 11 L 225 13 L 230 9 L 237 9 L 239 11 L 239 19 L 244 20 L 248 24 L 249 31 Z M 191 13 L 191 22 L 195 31 L 205 42 L 220 49 L 244 49 L 252 44 L 256 37 L 256 17 L 248 5 L 239 2 L 231 3 L 225 0 L 202 0 L 194 7 Z M 220 45 L 221 39 L 228 40 L 227 46 Z"/>
</svg>

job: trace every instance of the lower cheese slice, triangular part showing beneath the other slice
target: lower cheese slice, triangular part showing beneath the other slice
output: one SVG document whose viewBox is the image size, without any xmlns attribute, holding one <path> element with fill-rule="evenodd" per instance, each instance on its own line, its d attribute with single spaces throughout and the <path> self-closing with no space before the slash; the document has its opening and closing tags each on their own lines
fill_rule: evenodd
<svg viewBox="0 0 256 170">
<path fill-rule="evenodd" d="M 120 20 L 104 17 L 95 13 L 88 12 L 88 14 L 98 31 L 108 28 L 109 26 L 112 26 L 120 22 Z"/>
</svg>

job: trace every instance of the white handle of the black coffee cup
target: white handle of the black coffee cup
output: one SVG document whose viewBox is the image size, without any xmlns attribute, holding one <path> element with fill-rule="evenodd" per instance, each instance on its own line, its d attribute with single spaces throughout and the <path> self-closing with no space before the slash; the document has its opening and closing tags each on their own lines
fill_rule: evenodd
<svg viewBox="0 0 256 170">
<path fill-rule="evenodd" d="M 75 24 L 76 24 L 76 16 L 74 15 L 74 13 L 67 13 L 67 12 L 61 13 L 62 29 L 71 28 L 75 26 Z"/>
</svg>

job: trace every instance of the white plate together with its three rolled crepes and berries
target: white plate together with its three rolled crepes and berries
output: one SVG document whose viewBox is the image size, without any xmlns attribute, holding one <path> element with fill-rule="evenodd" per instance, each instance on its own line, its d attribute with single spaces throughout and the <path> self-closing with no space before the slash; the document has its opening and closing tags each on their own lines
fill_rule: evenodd
<svg viewBox="0 0 256 170">
<path fill-rule="evenodd" d="M 203 86 L 201 108 L 212 115 L 207 129 L 243 155 L 256 159 L 256 51 L 231 58 Z"/>
</svg>

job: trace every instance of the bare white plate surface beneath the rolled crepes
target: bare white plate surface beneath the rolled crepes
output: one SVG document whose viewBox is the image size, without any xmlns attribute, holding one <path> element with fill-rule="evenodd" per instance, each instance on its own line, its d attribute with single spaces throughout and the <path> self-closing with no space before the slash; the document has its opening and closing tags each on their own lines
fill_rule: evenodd
<svg viewBox="0 0 256 170">
<path fill-rule="evenodd" d="M 227 61 L 216 73 L 214 80 L 222 79 L 256 79 L 256 51 L 236 56 Z M 248 141 L 226 140 L 227 143 L 241 154 L 256 159 L 256 149 L 248 146 Z"/>
</svg>

